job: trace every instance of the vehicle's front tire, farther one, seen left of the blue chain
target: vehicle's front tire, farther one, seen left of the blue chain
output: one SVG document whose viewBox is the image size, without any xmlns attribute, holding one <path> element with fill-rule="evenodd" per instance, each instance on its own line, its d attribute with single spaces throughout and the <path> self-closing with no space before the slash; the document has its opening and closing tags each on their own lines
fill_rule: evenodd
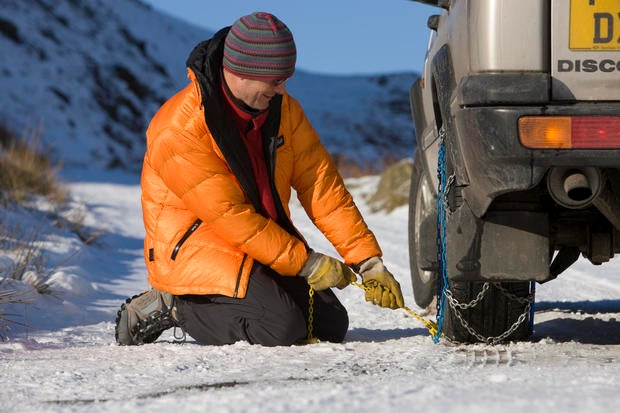
<svg viewBox="0 0 620 413">
<path fill-rule="evenodd" d="M 409 190 L 409 267 L 411 270 L 411 283 L 415 302 L 421 308 L 428 307 L 437 294 L 436 270 L 424 270 L 432 265 L 436 266 L 436 227 L 437 198 L 432 189 L 432 181 L 424 171 L 422 152 L 415 149 L 413 171 L 411 174 L 411 186 Z M 430 221 L 429 221 L 430 220 Z M 424 221 L 434 223 L 431 228 L 434 231 L 422 230 Z M 428 227 L 424 227 L 428 228 Z M 428 233 L 426 233 L 428 232 Z M 423 260 L 422 237 L 427 237 L 435 245 L 435 254 L 432 257 L 435 263 L 429 263 L 427 257 Z M 429 254 L 427 254 L 429 255 Z M 424 262 L 423 262 L 424 261 Z"/>
</svg>

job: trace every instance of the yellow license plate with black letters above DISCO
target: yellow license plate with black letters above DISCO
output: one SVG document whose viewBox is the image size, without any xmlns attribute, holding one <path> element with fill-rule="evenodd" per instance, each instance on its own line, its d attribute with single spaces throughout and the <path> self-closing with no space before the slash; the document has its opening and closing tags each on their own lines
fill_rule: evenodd
<svg viewBox="0 0 620 413">
<path fill-rule="evenodd" d="M 571 0 L 569 46 L 620 50 L 620 0 Z"/>
</svg>

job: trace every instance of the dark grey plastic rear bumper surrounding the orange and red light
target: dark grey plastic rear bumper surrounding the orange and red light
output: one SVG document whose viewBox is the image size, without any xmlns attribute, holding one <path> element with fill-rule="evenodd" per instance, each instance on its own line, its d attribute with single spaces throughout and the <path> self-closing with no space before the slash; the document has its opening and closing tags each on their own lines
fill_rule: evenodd
<svg viewBox="0 0 620 413">
<path fill-rule="evenodd" d="M 528 149 L 521 145 L 522 116 L 620 116 L 620 102 L 540 106 L 465 106 L 454 113 L 462 156 L 464 198 L 481 217 L 501 194 L 535 187 L 551 166 L 620 168 L 620 149 Z"/>
</svg>

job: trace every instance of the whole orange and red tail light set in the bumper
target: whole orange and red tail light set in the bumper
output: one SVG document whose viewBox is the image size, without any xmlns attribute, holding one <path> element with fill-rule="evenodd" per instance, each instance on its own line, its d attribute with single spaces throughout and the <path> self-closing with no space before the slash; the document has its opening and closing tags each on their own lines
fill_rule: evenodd
<svg viewBox="0 0 620 413">
<path fill-rule="evenodd" d="M 519 139 L 531 149 L 618 149 L 620 116 L 524 116 Z"/>
</svg>

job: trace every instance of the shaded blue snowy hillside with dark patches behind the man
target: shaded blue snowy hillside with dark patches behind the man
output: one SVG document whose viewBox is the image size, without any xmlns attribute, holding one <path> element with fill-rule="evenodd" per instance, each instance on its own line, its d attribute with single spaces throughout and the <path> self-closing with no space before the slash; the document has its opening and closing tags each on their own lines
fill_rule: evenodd
<svg viewBox="0 0 620 413">
<path fill-rule="evenodd" d="M 39 130 L 66 165 L 137 171 L 148 121 L 186 84 L 187 55 L 211 35 L 138 0 L 3 0 L 0 122 Z M 328 150 L 377 164 L 412 154 L 414 78 L 298 71 L 288 89 Z"/>
</svg>

